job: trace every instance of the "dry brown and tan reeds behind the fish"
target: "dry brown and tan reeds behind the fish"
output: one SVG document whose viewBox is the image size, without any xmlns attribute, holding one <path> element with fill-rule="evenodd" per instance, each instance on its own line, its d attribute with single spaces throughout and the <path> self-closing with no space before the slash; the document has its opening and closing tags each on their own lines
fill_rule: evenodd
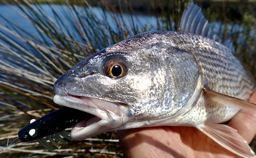
<svg viewBox="0 0 256 158">
<path fill-rule="evenodd" d="M 99 16 L 87 1 L 76 6 L 75 0 L 67 0 L 61 14 L 56 11 L 60 6 L 49 5 L 54 18 L 49 18 L 38 1 L 10 2 L 15 4 L 18 13 L 34 25 L 35 31 L 30 33 L 15 21 L 0 17 L 0 149 L 7 145 L 8 139 L 12 141 L 17 138 L 17 132 L 29 120 L 38 119 L 60 107 L 52 101 L 53 84 L 75 63 L 140 32 L 175 30 L 189 1 L 167 0 L 157 7 L 152 2 L 153 11 L 150 13 L 155 15 L 154 27 L 139 26 L 140 21 L 132 16 L 134 8 L 127 1 L 125 3 L 129 7 L 126 9 L 113 7 L 108 1 L 101 1 L 103 12 Z M 246 8 L 246 4 L 244 6 Z M 205 9 L 203 12 L 210 21 L 217 17 L 225 19 L 226 12 L 221 15 L 214 9 Z M 221 30 L 224 30 L 221 35 L 223 38 L 232 37 L 236 51 L 240 52 L 236 55 L 256 74 L 256 39 L 255 36 L 250 36 L 251 30 L 256 29 L 256 19 L 251 12 L 244 9 L 241 20 L 229 21 L 226 18 L 223 24 L 232 25 L 221 25 Z M 108 13 L 110 16 L 107 16 Z M 124 19 L 124 14 L 132 19 L 131 23 Z M 112 19 L 112 22 L 104 19 Z M 61 25 L 65 26 L 67 23 L 70 27 L 60 29 Z M 241 28 L 237 30 L 236 24 L 241 25 Z M 113 25 L 118 29 L 114 29 Z M 0 157 L 122 157 L 115 132 L 61 146 L 61 149 L 48 152 L 37 142 L 18 143 L 0 152 Z"/>
</svg>

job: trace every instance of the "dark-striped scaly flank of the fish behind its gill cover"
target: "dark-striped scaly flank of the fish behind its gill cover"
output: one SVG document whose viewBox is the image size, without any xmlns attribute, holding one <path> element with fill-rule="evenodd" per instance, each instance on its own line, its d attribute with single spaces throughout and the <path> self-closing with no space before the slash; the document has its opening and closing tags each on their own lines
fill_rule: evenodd
<svg viewBox="0 0 256 158">
<path fill-rule="evenodd" d="M 175 40 L 177 41 L 178 39 L 180 39 L 180 36 L 187 36 L 187 34 L 179 32 L 171 32 L 170 34 L 170 37 L 175 38 Z M 196 40 L 198 40 L 198 38 L 200 37 L 196 36 L 195 38 L 197 38 Z M 188 44 L 186 44 L 185 42 L 188 42 Z M 179 41 L 177 43 L 179 43 Z M 236 57 L 234 57 L 230 53 L 230 51 L 225 46 L 219 43 L 211 44 L 207 40 L 204 40 L 203 44 L 195 44 L 194 46 L 191 46 L 191 44 L 189 44 L 191 43 L 191 41 L 182 40 L 182 43 L 187 46 L 185 47 L 187 49 L 184 51 L 194 54 L 195 58 L 197 59 L 199 65 L 202 68 L 202 71 L 204 72 L 204 76 L 208 78 L 208 86 L 213 90 L 219 93 L 223 93 L 225 95 L 238 97 L 244 100 L 248 100 L 250 95 L 243 94 L 241 93 L 241 91 L 243 92 L 244 89 L 246 89 L 246 92 L 250 94 L 255 91 L 254 79 L 248 76 L 246 71 L 244 71 L 242 64 L 238 61 Z M 203 45 L 210 45 L 209 48 L 212 51 L 206 51 L 208 47 L 206 47 L 205 49 Z M 226 69 L 226 65 L 230 65 L 228 68 L 230 68 L 231 70 Z M 216 72 L 218 73 L 216 74 Z M 216 75 L 217 77 L 220 77 L 218 82 L 215 81 Z M 227 91 L 227 93 L 224 93 L 223 90 L 226 90 L 226 88 L 222 88 L 222 85 L 230 87 L 230 90 Z"/>
</svg>

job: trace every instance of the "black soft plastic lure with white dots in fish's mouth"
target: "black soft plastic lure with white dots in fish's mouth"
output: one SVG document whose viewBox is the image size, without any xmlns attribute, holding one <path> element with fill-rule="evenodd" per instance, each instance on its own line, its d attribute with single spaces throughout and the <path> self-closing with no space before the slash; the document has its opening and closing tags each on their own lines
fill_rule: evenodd
<svg viewBox="0 0 256 158">
<path fill-rule="evenodd" d="M 22 142 L 37 140 L 40 145 L 53 151 L 54 149 L 43 138 L 46 137 L 57 148 L 61 148 L 61 145 L 57 143 L 61 141 L 67 143 L 63 138 L 72 140 L 65 129 L 85 119 L 88 115 L 91 114 L 74 108 L 62 107 L 25 126 L 18 135 Z"/>
</svg>

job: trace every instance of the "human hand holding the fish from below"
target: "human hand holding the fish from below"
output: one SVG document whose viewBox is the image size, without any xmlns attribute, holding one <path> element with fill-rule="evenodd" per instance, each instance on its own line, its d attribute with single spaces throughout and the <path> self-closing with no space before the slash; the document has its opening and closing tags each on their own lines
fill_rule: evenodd
<svg viewBox="0 0 256 158">
<path fill-rule="evenodd" d="M 256 93 L 249 99 L 256 104 Z M 238 112 L 229 126 L 247 141 L 256 134 L 256 111 Z M 159 126 L 118 131 L 127 158 L 239 158 L 194 127 Z"/>
</svg>

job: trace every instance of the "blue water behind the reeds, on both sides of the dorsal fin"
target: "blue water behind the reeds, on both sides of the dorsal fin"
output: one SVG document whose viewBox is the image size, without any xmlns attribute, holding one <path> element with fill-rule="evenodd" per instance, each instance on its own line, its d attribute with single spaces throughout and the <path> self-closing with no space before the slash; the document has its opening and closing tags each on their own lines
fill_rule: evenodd
<svg viewBox="0 0 256 158">
<path fill-rule="evenodd" d="M 72 8 L 67 5 L 54 4 L 31 5 L 31 7 L 39 12 L 34 14 L 27 9 L 27 15 L 25 15 L 16 5 L 0 5 L 0 25 L 18 33 L 18 37 L 16 37 L 14 34 L 4 30 L 5 27 L 0 27 L 1 60 L 8 57 L 3 55 L 3 51 L 8 52 L 8 49 L 17 49 L 17 52 L 20 52 L 19 49 L 24 48 L 29 52 L 33 52 L 40 58 L 38 52 L 34 50 L 31 45 L 22 41 L 20 37 L 28 38 L 40 45 L 51 46 L 53 48 L 56 47 L 56 44 L 54 44 L 52 40 L 53 38 L 49 38 L 50 35 L 43 32 L 43 29 L 38 25 L 34 25 L 34 23 L 40 22 L 40 20 L 44 22 L 43 27 L 48 27 L 52 30 L 52 32 L 50 32 L 51 34 L 58 35 L 54 36 L 54 38 L 59 41 L 58 44 L 62 44 L 60 42 L 61 38 L 65 37 L 72 42 L 76 41 L 81 44 L 89 42 L 90 45 L 94 45 L 97 49 L 103 49 L 121 39 L 127 38 L 127 35 L 121 32 L 124 28 L 129 36 L 139 32 L 156 31 L 159 29 L 158 25 L 165 28 L 164 20 L 162 20 L 161 17 L 157 18 L 154 15 L 141 15 L 135 13 L 122 13 L 122 15 L 120 15 L 119 13 L 102 10 L 100 7 L 85 8 L 83 6 L 74 6 L 75 8 Z M 245 19 L 250 18 L 246 16 L 248 15 L 244 15 Z M 28 17 L 30 17 L 30 19 L 28 19 Z M 34 21 L 29 21 L 31 19 Z M 172 17 L 169 20 L 172 20 Z M 171 24 L 175 25 L 174 22 L 171 22 Z M 236 42 L 245 48 L 247 47 L 247 43 L 252 41 L 251 39 L 255 39 L 255 29 L 250 28 L 247 24 L 235 24 L 234 22 L 229 21 L 228 24 L 224 25 L 222 21 L 218 20 L 212 21 L 211 25 L 214 30 L 221 35 L 225 34 L 228 30 L 227 32 L 229 32 L 229 34 L 226 37 L 235 35 Z M 171 28 L 173 28 L 173 26 L 171 26 Z M 114 41 L 113 38 L 115 37 L 113 37 L 113 35 L 121 38 Z M 95 37 L 95 39 L 91 37 Z M 102 37 L 104 39 L 99 39 Z M 9 46 L 8 49 L 3 47 L 7 45 Z M 68 44 L 66 44 L 64 48 L 67 45 Z M 250 44 L 250 47 L 254 49 L 254 44 Z M 20 64 L 22 64 L 22 62 L 20 62 Z"/>
</svg>

